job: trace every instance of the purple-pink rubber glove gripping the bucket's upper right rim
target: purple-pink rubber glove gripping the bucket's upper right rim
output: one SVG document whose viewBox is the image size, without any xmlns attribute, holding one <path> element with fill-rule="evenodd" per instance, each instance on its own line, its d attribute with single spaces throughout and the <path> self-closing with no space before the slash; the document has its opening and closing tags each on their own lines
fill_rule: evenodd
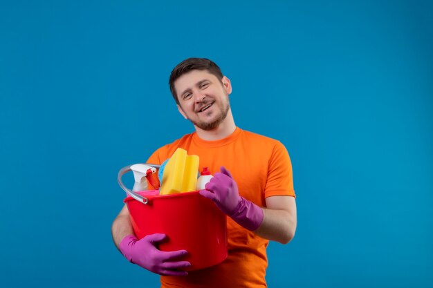
<svg viewBox="0 0 433 288">
<path fill-rule="evenodd" d="M 236 182 L 223 166 L 221 173 L 215 173 L 205 185 L 205 190 L 199 193 L 212 200 L 221 211 L 250 231 L 255 231 L 263 222 L 263 210 L 239 195 Z"/>
</svg>

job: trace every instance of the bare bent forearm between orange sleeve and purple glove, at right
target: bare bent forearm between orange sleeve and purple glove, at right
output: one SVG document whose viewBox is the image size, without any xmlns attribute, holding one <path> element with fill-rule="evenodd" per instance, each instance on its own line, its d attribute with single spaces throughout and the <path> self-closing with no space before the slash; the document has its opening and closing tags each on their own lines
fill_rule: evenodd
<svg viewBox="0 0 433 288">
<path fill-rule="evenodd" d="M 295 236 L 297 215 L 296 202 L 292 196 L 271 196 L 266 198 L 264 219 L 254 231 L 261 238 L 287 244 Z"/>
</svg>

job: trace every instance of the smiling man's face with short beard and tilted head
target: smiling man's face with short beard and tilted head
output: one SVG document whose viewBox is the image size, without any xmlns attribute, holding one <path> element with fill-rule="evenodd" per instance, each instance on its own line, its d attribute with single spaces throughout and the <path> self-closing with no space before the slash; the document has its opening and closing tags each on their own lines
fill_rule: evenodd
<svg viewBox="0 0 433 288">
<path fill-rule="evenodd" d="M 221 81 L 206 70 L 192 70 L 174 81 L 179 112 L 205 131 L 218 127 L 230 110 L 232 86 L 227 77 Z"/>
</svg>

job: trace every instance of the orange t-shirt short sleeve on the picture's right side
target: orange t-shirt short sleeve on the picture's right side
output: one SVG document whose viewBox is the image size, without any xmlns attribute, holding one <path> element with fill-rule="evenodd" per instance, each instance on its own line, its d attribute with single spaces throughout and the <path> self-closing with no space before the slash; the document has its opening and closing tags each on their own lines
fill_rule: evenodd
<svg viewBox="0 0 433 288">
<path fill-rule="evenodd" d="M 291 160 L 286 147 L 281 142 L 277 142 L 273 148 L 265 188 L 265 198 L 275 195 L 296 197 Z"/>
</svg>

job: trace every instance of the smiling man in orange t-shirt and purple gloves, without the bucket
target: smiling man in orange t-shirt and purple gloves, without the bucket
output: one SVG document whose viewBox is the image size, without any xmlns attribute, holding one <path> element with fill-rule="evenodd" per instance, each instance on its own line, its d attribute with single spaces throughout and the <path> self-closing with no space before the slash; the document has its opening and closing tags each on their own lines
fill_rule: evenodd
<svg viewBox="0 0 433 288">
<path fill-rule="evenodd" d="M 156 248 L 164 234 L 137 240 L 127 207 L 113 222 L 113 240 L 131 262 L 161 275 L 162 287 L 266 287 L 269 240 L 290 242 L 296 229 L 291 162 L 283 144 L 234 124 L 230 80 L 214 62 L 190 58 L 172 71 L 169 86 L 178 111 L 195 132 L 159 148 L 147 162 L 161 164 L 184 148 L 214 175 L 200 191 L 228 215 L 228 258 L 219 265 L 183 271 L 187 251 Z"/>
</svg>

